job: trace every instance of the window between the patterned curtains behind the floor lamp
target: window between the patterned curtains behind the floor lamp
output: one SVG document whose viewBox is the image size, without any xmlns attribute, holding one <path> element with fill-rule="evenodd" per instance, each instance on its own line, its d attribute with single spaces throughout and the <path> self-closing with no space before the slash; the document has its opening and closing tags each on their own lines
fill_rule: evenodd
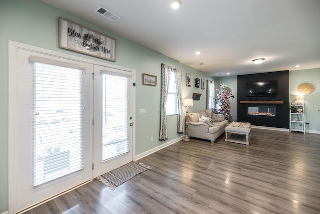
<svg viewBox="0 0 320 214">
<path fill-rule="evenodd" d="M 177 101 L 177 92 L 176 92 L 176 80 L 174 71 L 170 72 L 170 81 L 168 95 L 165 103 L 166 115 L 178 114 L 178 101 Z"/>
</svg>

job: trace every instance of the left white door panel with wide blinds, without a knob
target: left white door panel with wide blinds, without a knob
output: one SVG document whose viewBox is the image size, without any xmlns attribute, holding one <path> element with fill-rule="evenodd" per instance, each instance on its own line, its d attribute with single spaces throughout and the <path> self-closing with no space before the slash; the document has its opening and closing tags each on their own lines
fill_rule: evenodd
<svg viewBox="0 0 320 214">
<path fill-rule="evenodd" d="M 92 64 L 23 48 L 15 54 L 9 208 L 19 212 L 92 179 Z"/>
</svg>

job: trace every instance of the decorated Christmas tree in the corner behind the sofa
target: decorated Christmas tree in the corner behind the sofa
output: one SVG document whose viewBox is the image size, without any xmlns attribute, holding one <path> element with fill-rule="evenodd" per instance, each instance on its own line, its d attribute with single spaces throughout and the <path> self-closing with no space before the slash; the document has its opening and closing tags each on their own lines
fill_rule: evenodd
<svg viewBox="0 0 320 214">
<path fill-rule="evenodd" d="M 228 120 L 228 122 L 231 122 L 231 112 L 230 112 L 230 102 L 229 99 L 230 98 L 234 98 L 234 96 L 232 95 L 232 92 L 229 90 L 225 89 L 226 85 L 221 84 L 220 88 L 216 89 L 215 91 L 218 92 L 217 94 L 217 98 L 214 99 L 214 101 L 216 102 L 215 104 L 215 108 L 217 113 L 222 114 L 224 116 L 224 118 L 226 120 Z"/>
</svg>

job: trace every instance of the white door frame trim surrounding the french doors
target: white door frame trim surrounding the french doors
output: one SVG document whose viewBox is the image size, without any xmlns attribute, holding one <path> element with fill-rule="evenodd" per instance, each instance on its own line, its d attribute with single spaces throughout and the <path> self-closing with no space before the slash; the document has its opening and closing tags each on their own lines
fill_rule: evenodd
<svg viewBox="0 0 320 214">
<path fill-rule="evenodd" d="M 8 210 L 9 213 L 16 213 L 16 196 L 18 189 L 16 189 L 16 183 L 18 182 L 17 178 L 17 136 L 16 136 L 16 124 L 18 123 L 15 112 L 16 112 L 16 69 L 17 66 L 15 64 L 16 60 L 16 54 L 17 50 L 19 49 L 24 49 L 24 50 L 29 50 L 33 52 L 38 52 L 46 55 L 52 55 L 52 56 L 57 56 L 62 59 L 68 59 L 68 60 L 73 60 L 73 61 L 79 61 L 79 62 L 85 62 L 85 63 L 90 63 L 95 65 L 101 65 L 104 67 L 109 67 L 109 68 L 115 68 L 119 70 L 124 70 L 124 71 L 130 71 L 134 73 L 133 77 L 133 82 L 135 82 L 135 70 L 134 69 L 128 69 L 120 66 L 115 66 L 107 63 L 102 63 L 99 61 L 95 60 L 89 60 L 86 58 L 82 57 L 76 57 L 73 55 L 69 54 L 63 54 L 60 52 L 52 51 L 52 50 L 47 50 L 31 45 L 26 45 L 23 43 L 18 43 L 14 41 L 8 41 Z M 93 93 L 93 92 L 92 92 Z M 91 95 L 92 95 L 91 93 Z M 91 99 L 92 100 L 92 99 Z M 133 113 L 135 114 L 135 87 L 133 87 L 133 103 L 132 103 L 132 108 L 133 108 Z M 92 104 L 91 104 L 92 105 Z M 91 118 L 93 115 L 91 114 Z M 133 124 L 135 124 L 135 115 L 133 115 Z M 92 138 L 92 136 L 91 136 Z M 91 143 L 91 151 L 92 151 L 92 143 Z M 135 126 L 133 126 L 133 140 L 132 140 L 132 159 L 135 155 Z M 92 161 L 92 160 L 91 160 Z M 92 175 L 91 175 L 92 177 Z M 92 178 L 91 178 L 92 179 Z M 88 181 L 89 182 L 89 181 Z M 85 182 L 86 183 L 86 182 Z M 82 183 L 80 185 L 83 185 L 85 183 Z M 80 186 L 78 185 L 78 186 Z M 78 187 L 75 186 L 71 189 L 67 189 L 63 193 L 66 193 L 68 191 L 71 191 L 72 189 Z M 63 194 L 61 193 L 61 194 Z M 59 194 L 59 195 L 61 195 Z M 54 195 L 50 199 L 57 197 L 59 195 Z M 46 202 L 47 200 L 40 201 L 39 204 L 42 204 Z M 29 209 L 31 209 L 30 207 Z M 24 210 L 25 211 L 25 210 Z"/>
</svg>

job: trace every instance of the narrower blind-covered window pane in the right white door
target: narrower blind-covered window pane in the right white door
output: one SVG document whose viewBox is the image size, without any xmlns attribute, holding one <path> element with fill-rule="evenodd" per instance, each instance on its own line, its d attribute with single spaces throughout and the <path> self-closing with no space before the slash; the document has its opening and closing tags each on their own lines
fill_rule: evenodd
<svg viewBox="0 0 320 214">
<path fill-rule="evenodd" d="M 126 75 L 102 75 L 102 161 L 129 152 L 129 80 Z"/>
</svg>

